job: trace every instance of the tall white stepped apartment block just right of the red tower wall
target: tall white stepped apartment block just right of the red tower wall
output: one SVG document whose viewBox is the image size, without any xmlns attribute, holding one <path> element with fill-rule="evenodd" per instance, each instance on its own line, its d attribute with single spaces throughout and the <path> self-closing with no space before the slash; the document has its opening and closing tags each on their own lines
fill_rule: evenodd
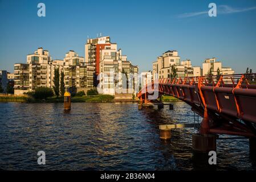
<svg viewBox="0 0 256 182">
<path fill-rule="evenodd" d="M 117 44 L 105 46 L 100 51 L 99 84 L 103 94 L 136 93 L 138 67 L 122 55 Z"/>
</svg>

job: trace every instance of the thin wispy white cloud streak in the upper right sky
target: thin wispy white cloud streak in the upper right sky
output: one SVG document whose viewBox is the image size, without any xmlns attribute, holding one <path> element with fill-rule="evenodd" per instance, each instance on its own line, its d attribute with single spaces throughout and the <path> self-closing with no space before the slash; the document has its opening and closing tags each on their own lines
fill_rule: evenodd
<svg viewBox="0 0 256 182">
<path fill-rule="evenodd" d="M 219 6 L 217 5 L 217 15 L 218 14 L 242 13 L 245 11 L 251 11 L 251 10 L 255 10 L 255 9 L 256 9 L 256 6 L 246 7 L 246 8 L 234 8 L 234 7 L 230 7 L 227 5 L 219 5 Z M 204 14 L 208 14 L 208 11 L 184 13 L 184 14 L 178 15 L 177 17 L 178 18 L 189 18 L 189 17 L 200 16 L 200 15 L 204 15 Z"/>
</svg>

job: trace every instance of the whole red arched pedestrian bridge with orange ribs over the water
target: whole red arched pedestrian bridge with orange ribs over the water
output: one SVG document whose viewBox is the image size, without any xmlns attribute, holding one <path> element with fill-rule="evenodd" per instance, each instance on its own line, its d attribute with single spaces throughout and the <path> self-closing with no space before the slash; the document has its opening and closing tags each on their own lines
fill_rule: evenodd
<svg viewBox="0 0 256 182">
<path fill-rule="evenodd" d="M 162 95 L 178 98 L 203 117 L 199 134 L 256 137 L 256 73 L 161 78 L 137 94 L 140 104 L 160 102 Z M 156 97 L 153 97 L 156 96 Z"/>
</svg>

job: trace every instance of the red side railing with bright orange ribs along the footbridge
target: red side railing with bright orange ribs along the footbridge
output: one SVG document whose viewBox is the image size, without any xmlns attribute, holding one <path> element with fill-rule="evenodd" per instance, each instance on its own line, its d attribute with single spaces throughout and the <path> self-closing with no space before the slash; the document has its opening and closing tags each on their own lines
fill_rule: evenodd
<svg viewBox="0 0 256 182">
<path fill-rule="evenodd" d="M 137 96 L 147 100 L 148 92 L 155 89 L 159 96 L 168 94 L 216 113 L 256 123 L 256 73 L 160 78 L 145 86 Z"/>
</svg>

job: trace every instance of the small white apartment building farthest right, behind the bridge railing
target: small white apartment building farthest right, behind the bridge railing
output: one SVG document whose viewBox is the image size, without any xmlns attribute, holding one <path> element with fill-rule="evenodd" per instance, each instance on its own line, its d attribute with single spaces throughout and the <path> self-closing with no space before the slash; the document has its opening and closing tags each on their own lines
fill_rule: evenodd
<svg viewBox="0 0 256 182">
<path fill-rule="evenodd" d="M 232 75 L 234 74 L 233 69 L 228 67 L 222 67 L 221 61 L 216 61 L 216 57 L 212 59 L 205 59 L 202 63 L 202 76 L 207 76 L 210 69 L 212 70 L 213 75 L 217 75 L 217 70 L 220 69 L 221 75 Z"/>
</svg>

